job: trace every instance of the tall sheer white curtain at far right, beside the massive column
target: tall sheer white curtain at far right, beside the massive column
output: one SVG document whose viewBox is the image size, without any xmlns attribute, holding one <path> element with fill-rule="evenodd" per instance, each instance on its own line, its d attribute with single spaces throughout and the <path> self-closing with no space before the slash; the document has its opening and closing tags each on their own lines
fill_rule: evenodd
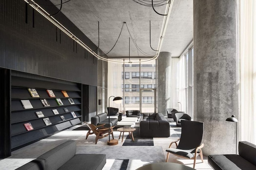
<svg viewBox="0 0 256 170">
<path fill-rule="evenodd" d="M 256 0 L 240 0 L 239 140 L 256 144 Z"/>
</svg>

